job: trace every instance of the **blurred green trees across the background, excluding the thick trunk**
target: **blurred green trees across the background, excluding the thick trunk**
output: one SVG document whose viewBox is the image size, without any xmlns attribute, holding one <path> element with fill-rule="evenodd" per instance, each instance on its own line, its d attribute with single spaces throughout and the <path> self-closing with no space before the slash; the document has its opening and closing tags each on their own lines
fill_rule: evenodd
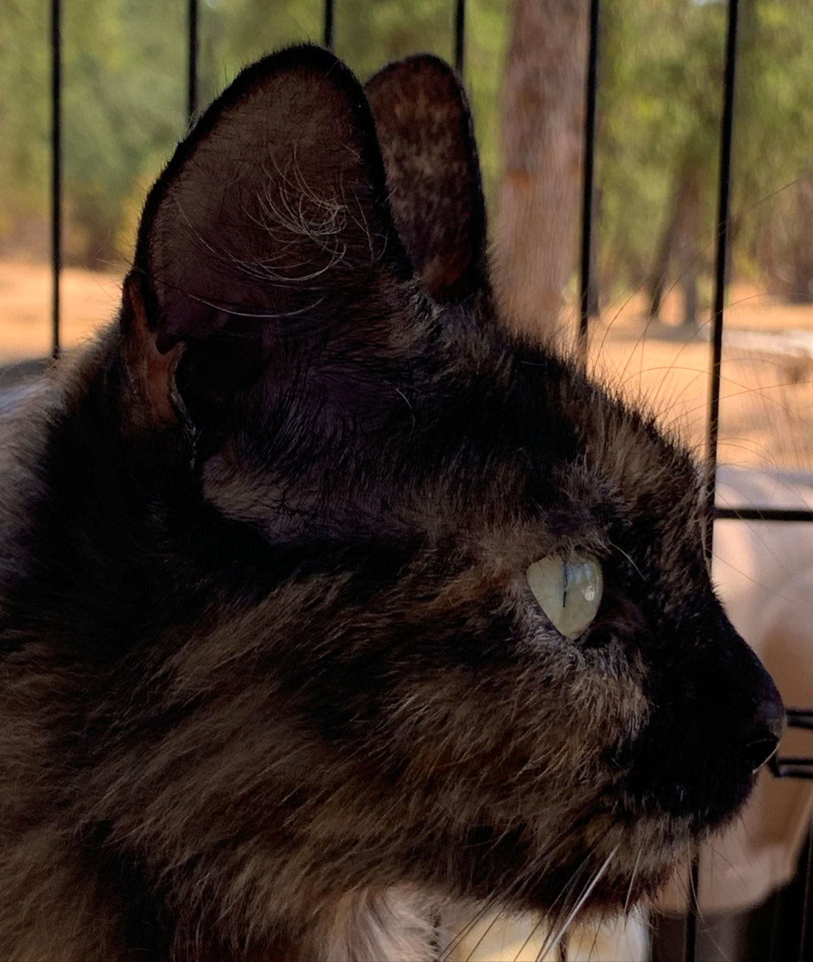
<svg viewBox="0 0 813 962">
<path fill-rule="evenodd" d="M 579 0 L 586 7 L 588 0 Z M 493 215 L 502 170 L 500 89 L 512 0 L 467 5 L 467 86 Z M 451 56 L 451 0 L 337 0 L 337 52 L 365 77 L 416 50 Z M 321 0 L 201 0 L 206 103 L 268 49 L 320 38 Z M 644 287 L 657 316 L 679 283 L 695 323 L 710 290 L 725 4 L 603 5 L 597 266 L 603 299 Z M 743 0 L 731 269 L 813 299 L 813 5 Z M 145 190 L 183 135 L 186 4 L 64 0 L 64 254 L 118 266 Z M 546 69 L 557 71 L 551 61 Z M 0 256 L 47 255 L 47 10 L 0 0 Z M 495 216 L 492 218 L 495 222 Z M 575 268 L 577 224 L 568 228 Z"/>
</svg>

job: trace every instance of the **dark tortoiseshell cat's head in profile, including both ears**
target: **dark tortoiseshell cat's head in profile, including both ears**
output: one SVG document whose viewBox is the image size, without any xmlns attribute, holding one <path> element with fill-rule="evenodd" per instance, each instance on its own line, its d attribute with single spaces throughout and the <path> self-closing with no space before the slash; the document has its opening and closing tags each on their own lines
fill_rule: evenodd
<svg viewBox="0 0 813 962">
<path fill-rule="evenodd" d="M 171 659 L 221 753 L 201 818 L 233 791 L 223 831 L 327 887 L 544 908 L 651 890 L 743 804 L 782 707 L 697 468 L 500 327 L 444 64 L 243 71 L 149 196 L 122 318 L 138 430 L 193 436 L 201 523 L 254 539 Z"/>
</svg>

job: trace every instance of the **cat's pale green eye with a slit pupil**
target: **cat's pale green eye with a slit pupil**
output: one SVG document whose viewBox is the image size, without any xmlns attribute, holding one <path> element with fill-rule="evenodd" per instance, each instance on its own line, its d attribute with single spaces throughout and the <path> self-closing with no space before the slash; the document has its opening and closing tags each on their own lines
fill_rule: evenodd
<svg viewBox="0 0 813 962">
<path fill-rule="evenodd" d="M 592 555 L 540 558 L 525 577 L 547 619 L 565 638 L 576 638 L 596 618 L 603 583 Z"/>
</svg>

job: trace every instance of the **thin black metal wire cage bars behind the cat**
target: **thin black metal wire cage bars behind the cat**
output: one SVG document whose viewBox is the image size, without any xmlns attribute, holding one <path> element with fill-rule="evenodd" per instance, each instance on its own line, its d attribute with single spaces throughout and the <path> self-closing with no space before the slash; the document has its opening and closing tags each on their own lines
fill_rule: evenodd
<svg viewBox="0 0 813 962">
<path fill-rule="evenodd" d="M 466 0 L 451 0 L 454 4 L 453 50 L 451 59 L 458 73 L 463 76 L 466 53 Z M 737 28 L 739 0 L 727 0 L 728 17 L 725 41 L 724 63 L 724 109 L 721 122 L 721 152 L 718 185 L 718 209 L 716 222 L 715 283 L 713 305 L 713 331 L 710 357 L 709 419 L 706 434 L 708 529 L 706 531 L 706 552 L 711 557 L 714 538 L 714 520 L 740 519 L 750 521 L 812 521 L 813 511 L 777 509 L 766 507 L 718 507 L 715 503 L 715 474 L 717 467 L 717 448 L 720 428 L 720 389 L 723 355 L 724 303 L 726 290 L 726 265 L 730 242 L 731 211 L 731 159 L 734 130 L 734 92 L 737 66 Z M 187 114 L 193 123 L 198 113 L 198 13 L 199 0 L 189 0 L 188 6 L 188 60 L 187 60 Z M 592 263 L 591 252 L 595 244 L 594 217 L 594 171 L 596 157 L 596 118 L 598 90 L 598 40 L 600 0 L 590 0 L 589 42 L 587 62 L 587 82 L 585 91 L 585 128 L 584 128 L 584 180 L 581 214 L 581 245 L 579 273 L 579 338 L 582 356 L 586 357 L 591 309 Z M 61 350 L 61 273 L 62 273 L 62 227 L 63 227 L 63 138 L 62 138 L 62 5 L 61 0 L 51 0 L 51 266 L 52 302 L 51 331 L 52 357 L 57 358 Z M 322 41 L 333 48 L 335 38 L 334 0 L 324 0 Z M 789 725 L 813 729 L 813 709 L 792 709 L 788 713 Z M 813 757 L 778 757 L 772 763 L 772 771 L 779 777 L 813 777 Z M 805 948 L 809 939 L 807 907 L 810 899 L 811 866 L 809 856 L 805 873 L 804 913 L 800 952 L 806 957 Z M 690 911 L 685 925 L 684 959 L 694 962 L 697 939 L 697 891 L 699 884 L 697 862 L 690 879 Z M 567 949 L 562 949 L 563 957 Z"/>
</svg>

